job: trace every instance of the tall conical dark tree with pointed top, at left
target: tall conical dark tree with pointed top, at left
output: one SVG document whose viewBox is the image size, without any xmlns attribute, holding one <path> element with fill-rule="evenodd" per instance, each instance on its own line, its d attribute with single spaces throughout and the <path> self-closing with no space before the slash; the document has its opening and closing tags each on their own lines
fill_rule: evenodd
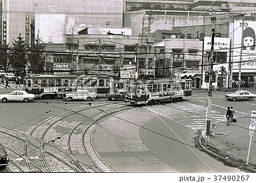
<svg viewBox="0 0 256 183">
<path fill-rule="evenodd" d="M 13 46 L 11 47 L 9 60 L 10 65 L 15 71 L 25 70 L 27 64 L 27 42 L 24 41 L 21 33 L 17 40 L 13 40 Z"/>
</svg>

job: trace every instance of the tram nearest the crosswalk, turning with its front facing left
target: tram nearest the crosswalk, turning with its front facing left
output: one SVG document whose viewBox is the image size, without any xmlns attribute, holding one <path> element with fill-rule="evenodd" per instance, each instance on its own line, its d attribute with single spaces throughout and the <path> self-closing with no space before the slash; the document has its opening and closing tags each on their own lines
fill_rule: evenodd
<svg viewBox="0 0 256 183">
<path fill-rule="evenodd" d="M 181 101 L 192 95 L 192 79 L 130 80 L 126 84 L 126 103 L 155 104 L 160 101 Z"/>
</svg>

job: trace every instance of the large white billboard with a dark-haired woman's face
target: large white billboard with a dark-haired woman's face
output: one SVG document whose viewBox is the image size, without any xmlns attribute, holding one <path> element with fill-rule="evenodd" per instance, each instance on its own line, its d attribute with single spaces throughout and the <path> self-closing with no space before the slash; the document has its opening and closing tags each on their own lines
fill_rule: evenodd
<svg viewBox="0 0 256 183">
<path fill-rule="evenodd" d="M 255 33 L 256 21 L 234 22 L 234 40 L 233 40 L 233 71 L 238 72 L 240 62 L 240 54 L 242 55 L 241 71 L 255 72 L 256 71 L 256 46 Z M 242 30 L 243 27 L 243 30 Z M 242 40 L 242 42 L 241 42 Z M 241 53 L 242 46 L 242 53 Z"/>
</svg>

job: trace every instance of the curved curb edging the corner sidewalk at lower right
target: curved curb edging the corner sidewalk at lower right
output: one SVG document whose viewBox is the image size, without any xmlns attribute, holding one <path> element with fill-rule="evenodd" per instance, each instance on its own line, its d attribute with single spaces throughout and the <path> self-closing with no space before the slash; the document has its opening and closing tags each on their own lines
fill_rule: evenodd
<svg viewBox="0 0 256 183">
<path fill-rule="evenodd" d="M 199 136 L 199 139 L 198 139 L 198 144 L 199 144 L 199 147 L 201 148 L 201 150 L 207 152 L 207 154 L 217 158 L 217 159 L 220 159 L 221 161 L 223 161 L 225 164 L 229 164 L 231 165 L 232 167 L 237 167 L 239 169 L 245 169 L 246 171 L 249 171 L 251 173 L 255 173 L 256 172 L 256 169 L 254 168 L 251 168 L 251 167 L 248 167 L 247 165 L 244 165 L 244 164 L 241 164 L 241 163 L 236 163 L 235 161 L 232 161 L 232 160 L 229 160 L 229 159 L 226 159 L 210 150 L 208 150 L 202 143 L 202 139 L 203 139 L 203 136 L 200 135 Z"/>
</svg>

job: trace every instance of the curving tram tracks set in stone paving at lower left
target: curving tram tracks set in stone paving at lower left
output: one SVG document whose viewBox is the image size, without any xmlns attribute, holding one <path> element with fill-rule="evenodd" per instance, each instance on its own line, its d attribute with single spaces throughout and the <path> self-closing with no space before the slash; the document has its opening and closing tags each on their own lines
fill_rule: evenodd
<svg viewBox="0 0 256 183">
<path fill-rule="evenodd" d="M 115 104 L 118 105 L 118 103 Z M 97 105 L 97 107 L 108 111 L 109 114 L 131 108 L 126 105 L 121 108 L 119 105 L 115 109 L 108 109 L 108 105 L 110 103 Z M 26 134 L 20 134 L 20 132 L 14 130 L 0 130 L 6 137 L 13 138 L 13 141 L 19 142 L 19 146 L 23 146 L 23 151 L 20 148 L 19 150 L 12 150 L 12 147 L 5 146 L 10 156 L 10 164 L 6 168 L 7 172 L 111 172 L 97 158 L 96 154 L 92 153 L 90 141 L 89 144 L 86 144 L 88 143 L 86 137 L 90 136 L 90 129 L 109 114 L 101 111 L 89 116 L 82 114 L 86 110 L 93 110 L 90 107 L 65 110 L 57 116 L 49 117 L 39 125 L 29 129 L 29 131 L 27 130 Z M 81 122 L 64 121 L 65 118 L 77 115 L 85 119 Z M 67 131 L 64 133 L 55 129 L 58 126 L 65 125 Z M 22 138 L 20 138 L 21 136 Z M 88 147 L 90 150 L 88 150 Z M 85 156 L 81 158 L 81 155 Z M 91 163 L 88 163 L 87 160 Z"/>
</svg>

